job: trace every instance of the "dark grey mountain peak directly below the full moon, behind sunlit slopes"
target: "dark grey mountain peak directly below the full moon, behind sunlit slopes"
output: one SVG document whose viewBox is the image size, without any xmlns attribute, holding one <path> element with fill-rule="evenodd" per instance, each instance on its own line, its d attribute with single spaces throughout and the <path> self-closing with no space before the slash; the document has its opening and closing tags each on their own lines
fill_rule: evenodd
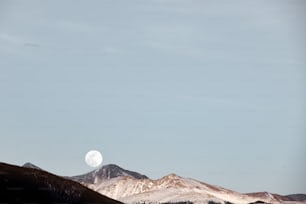
<svg viewBox="0 0 306 204">
<path fill-rule="evenodd" d="M 86 184 L 93 184 L 112 178 L 130 176 L 134 179 L 147 179 L 148 177 L 134 171 L 123 169 L 115 164 L 105 165 L 87 174 L 70 177 L 74 181 Z"/>
</svg>

